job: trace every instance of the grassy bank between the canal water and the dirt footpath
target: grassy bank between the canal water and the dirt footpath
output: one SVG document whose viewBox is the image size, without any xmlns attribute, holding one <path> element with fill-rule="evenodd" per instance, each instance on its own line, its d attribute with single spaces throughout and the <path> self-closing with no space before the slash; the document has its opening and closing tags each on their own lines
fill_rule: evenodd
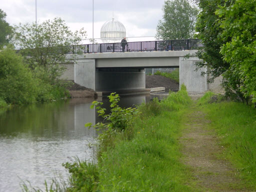
<svg viewBox="0 0 256 192">
<path fill-rule="evenodd" d="M 72 173 L 68 191 L 191 191 L 177 140 L 190 102 L 182 89 L 164 101 L 139 106 L 129 126 L 105 132 L 107 147 L 96 165 L 66 164 Z"/>
</svg>

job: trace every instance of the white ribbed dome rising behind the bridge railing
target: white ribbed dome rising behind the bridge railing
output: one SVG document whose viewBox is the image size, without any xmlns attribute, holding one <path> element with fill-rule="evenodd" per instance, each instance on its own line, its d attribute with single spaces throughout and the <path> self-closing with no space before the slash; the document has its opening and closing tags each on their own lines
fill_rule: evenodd
<svg viewBox="0 0 256 192">
<path fill-rule="evenodd" d="M 100 39 L 103 41 L 120 40 L 126 36 L 126 30 L 123 24 L 117 20 L 105 22 L 100 29 Z"/>
</svg>

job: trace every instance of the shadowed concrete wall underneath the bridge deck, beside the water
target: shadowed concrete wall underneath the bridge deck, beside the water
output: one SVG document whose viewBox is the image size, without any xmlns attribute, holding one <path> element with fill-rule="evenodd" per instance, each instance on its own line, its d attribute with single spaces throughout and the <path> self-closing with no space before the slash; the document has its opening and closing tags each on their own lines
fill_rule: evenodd
<svg viewBox="0 0 256 192">
<path fill-rule="evenodd" d="M 127 70 L 127 71 L 125 71 Z M 99 71 L 95 72 L 95 90 L 125 90 L 145 88 L 145 71 L 129 71 L 124 68 L 122 71 Z"/>
</svg>

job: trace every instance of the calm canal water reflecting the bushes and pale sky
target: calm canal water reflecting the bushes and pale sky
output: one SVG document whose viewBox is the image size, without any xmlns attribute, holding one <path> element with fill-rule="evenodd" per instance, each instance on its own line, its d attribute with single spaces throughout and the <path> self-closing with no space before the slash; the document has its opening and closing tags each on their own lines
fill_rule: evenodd
<svg viewBox="0 0 256 192">
<path fill-rule="evenodd" d="M 147 99 L 144 95 L 122 97 L 120 106 Z M 95 148 L 91 143 L 97 133 L 84 127 L 86 122 L 99 120 L 95 109 L 89 108 L 92 101 L 32 104 L 0 114 L 0 192 L 21 191 L 21 180 L 41 188 L 53 176 L 66 180 L 68 173 L 61 164 L 73 157 L 92 161 Z"/>
</svg>

